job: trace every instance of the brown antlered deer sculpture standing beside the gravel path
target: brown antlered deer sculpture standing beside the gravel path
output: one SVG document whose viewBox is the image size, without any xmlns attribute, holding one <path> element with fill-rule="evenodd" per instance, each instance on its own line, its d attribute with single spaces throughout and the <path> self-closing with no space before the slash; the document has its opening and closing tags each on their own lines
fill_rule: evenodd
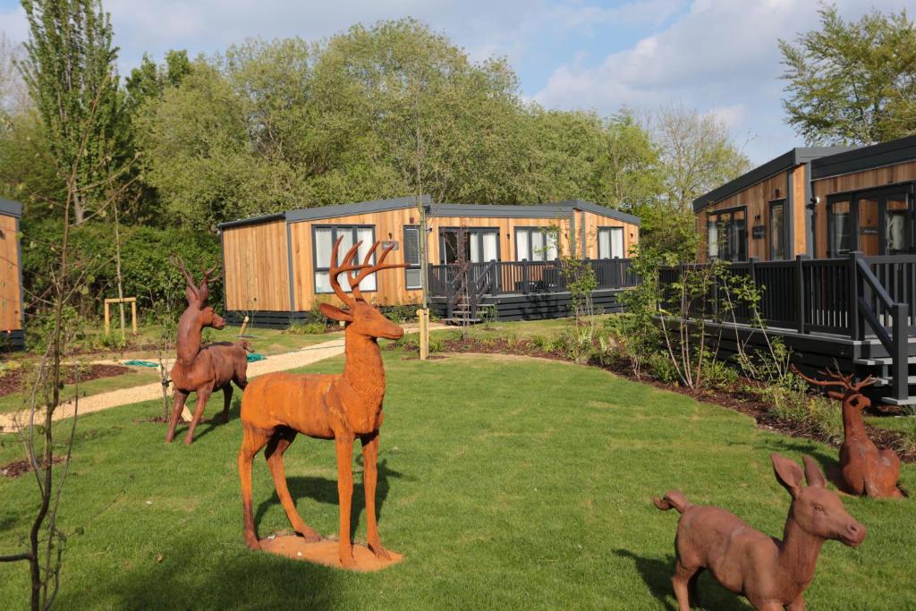
<svg viewBox="0 0 916 611">
<path fill-rule="evenodd" d="M 187 282 L 185 297 L 188 299 L 188 307 L 178 321 L 178 355 L 171 370 L 171 380 L 175 386 L 175 405 L 172 409 L 169 431 L 166 433 L 166 443 L 171 443 L 175 436 L 175 427 L 178 426 L 185 401 L 192 392 L 196 392 L 197 405 L 194 406 L 191 425 L 184 438 L 185 445 L 190 445 L 194 441 L 194 429 L 201 421 L 207 400 L 216 390 L 223 390 L 223 420 L 229 421 L 232 384 L 234 382 L 237 387 L 245 390 L 248 369 L 245 353 L 251 352 L 251 344 L 238 341 L 234 344 L 220 342 L 201 346 L 201 332 L 204 327 L 219 330 L 225 326 L 223 317 L 206 305 L 207 297 L 210 296 L 210 277 L 216 266 L 209 271 L 203 271 L 201 285 L 197 286 L 180 257 L 173 256 L 170 260 L 172 265 L 179 268 Z"/>
</svg>

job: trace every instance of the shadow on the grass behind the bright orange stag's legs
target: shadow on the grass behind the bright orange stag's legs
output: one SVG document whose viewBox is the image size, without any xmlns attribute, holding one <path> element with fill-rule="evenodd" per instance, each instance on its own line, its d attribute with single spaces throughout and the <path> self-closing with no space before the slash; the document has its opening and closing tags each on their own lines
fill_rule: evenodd
<svg viewBox="0 0 916 611">
<path fill-rule="evenodd" d="M 357 464 L 362 464 L 362 455 L 356 458 Z M 378 480 L 376 483 L 376 517 L 379 522 L 382 520 L 382 507 L 385 506 L 385 500 L 391 486 L 389 480 L 399 479 L 404 475 L 391 469 L 387 465 L 387 458 L 378 461 Z M 292 497 L 293 503 L 297 503 L 300 498 L 311 498 L 312 500 L 324 505 L 338 505 L 337 480 L 328 479 L 327 477 L 295 476 L 287 477 L 287 487 L 289 487 L 289 496 Z M 279 497 L 275 491 L 270 498 L 261 502 L 255 512 L 255 525 L 259 524 L 261 518 L 267 513 L 271 505 L 279 505 Z M 350 534 L 356 531 L 359 525 L 359 518 L 365 512 L 365 489 L 361 479 L 354 477 L 353 486 L 353 505 L 350 512 Z M 308 516 L 302 518 L 306 524 L 309 523 Z M 262 533 L 263 535 L 263 533 Z"/>
</svg>

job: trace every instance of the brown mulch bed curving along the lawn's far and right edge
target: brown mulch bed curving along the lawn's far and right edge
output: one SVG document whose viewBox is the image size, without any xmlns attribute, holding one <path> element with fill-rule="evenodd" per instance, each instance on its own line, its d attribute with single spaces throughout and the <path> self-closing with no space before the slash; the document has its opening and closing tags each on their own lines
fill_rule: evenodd
<svg viewBox="0 0 916 611">
<path fill-rule="evenodd" d="M 528 340 L 518 340 L 509 343 L 503 338 L 483 341 L 471 338 L 458 338 L 445 340 L 442 342 L 442 344 L 445 352 L 536 356 L 539 358 L 549 358 L 557 361 L 565 361 L 567 363 L 573 362 L 573 360 L 570 359 L 569 356 L 562 351 L 542 350 L 539 347 L 531 344 Z M 390 349 L 395 349 L 394 345 L 390 346 Z M 627 377 L 628 379 L 636 380 L 643 384 L 649 384 L 653 387 L 663 388 L 665 390 L 670 390 L 671 392 L 687 395 L 689 397 L 695 398 L 698 401 L 703 401 L 704 403 L 714 403 L 715 405 L 720 405 L 724 408 L 734 409 L 735 411 L 747 414 L 748 416 L 754 418 L 754 420 L 757 422 L 758 428 L 760 429 L 767 431 L 777 431 L 791 437 L 814 440 L 817 442 L 827 443 L 837 448 L 839 447 L 838 443 L 829 439 L 826 435 L 823 434 L 822 431 L 818 431 L 813 427 L 800 425 L 798 422 L 794 422 L 792 420 L 784 420 L 774 416 L 770 411 L 770 406 L 768 403 L 762 401 L 757 395 L 747 392 L 745 389 L 747 387 L 760 386 L 758 382 L 748 380 L 747 378 L 742 378 L 739 380 L 734 387 L 725 387 L 722 389 L 702 388 L 699 390 L 694 390 L 692 388 L 661 382 L 652 376 L 634 376 L 632 369 L 629 367 L 629 364 L 623 359 L 619 359 L 615 362 L 603 365 L 596 363 L 591 363 L 589 365 L 600 367 L 605 369 L 605 371 L 610 371 L 616 374 L 617 376 Z M 867 423 L 866 429 L 868 431 L 868 436 L 871 438 L 872 442 L 875 442 L 875 445 L 878 446 L 878 449 L 883 450 L 885 448 L 890 448 L 900 456 L 900 460 L 902 462 L 916 462 L 916 450 L 911 449 L 906 452 L 900 450 L 900 448 L 911 446 L 911 444 L 904 443 L 906 440 L 905 434 L 899 431 L 889 431 L 887 429 L 876 428 L 870 426 Z"/>
</svg>

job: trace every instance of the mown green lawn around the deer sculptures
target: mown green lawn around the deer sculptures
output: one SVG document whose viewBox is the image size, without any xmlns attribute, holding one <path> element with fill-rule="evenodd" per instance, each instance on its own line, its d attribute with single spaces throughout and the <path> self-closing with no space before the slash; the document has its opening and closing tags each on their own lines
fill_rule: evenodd
<svg viewBox="0 0 916 611">
<path fill-rule="evenodd" d="M 60 508 L 69 536 L 60 608 L 671 609 L 677 516 L 651 496 L 680 487 L 694 503 L 780 535 L 789 496 L 769 453 L 836 464 L 823 444 L 594 368 L 480 355 L 385 359 L 379 528 L 404 562 L 354 574 L 248 551 L 237 408 L 229 425 L 203 425 L 185 448 L 165 446 L 162 425 L 136 422 L 158 414 L 154 401 L 79 424 Z M 19 457 L 8 440 L 0 464 Z M 287 453 L 300 513 L 325 534 L 336 531 L 333 464 L 330 442 L 299 439 Z M 355 479 L 363 538 L 358 469 Z M 263 460 L 254 480 L 261 535 L 289 528 Z M 916 467 L 905 465 L 902 481 L 916 489 Z M 0 553 L 19 550 L 35 496 L 30 476 L 0 479 Z M 868 537 L 855 550 L 823 546 L 809 608 L 916 606 L 912 502 L 845 498 Z M 707 608 L 750 608 L 708 575 L 700 587 Z M 26 593 L 25 565 L 0 565 L 3 606 L 22 608 Z"/>
</svg>

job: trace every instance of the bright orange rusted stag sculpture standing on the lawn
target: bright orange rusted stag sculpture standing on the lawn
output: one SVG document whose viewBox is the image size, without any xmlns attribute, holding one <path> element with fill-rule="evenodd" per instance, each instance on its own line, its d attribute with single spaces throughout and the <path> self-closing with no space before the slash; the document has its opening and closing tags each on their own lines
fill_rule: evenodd
<svg viewBox="0 0 916 611">
<path fill-rule="evenodd" d="M 359 290 L 359 283 L 370 274 L 403 264 L 386 264 L 391 251 L 386 248 L 375 265 L 369 263 L 379 243 L 369 249 L 362 265 L 355 260 L 360 243 L 355 244 L 337 265 L 333 246 L 328 277 L 337 297 L 347 309 L 322 303 L 322 313 L 335 321 L 345 322 L 346 364 L 341 375 L 276 373 L 257 377 L 242 397 L 242 431 L 244 438 L 238 452 L 238 471 L 242 484 L 245 518 L 245 543 L 252 550 L 260 548 L 251 507 L 251 465 L 262 448 L 274 487 L 287 518 L 306 540 L 320 540 L 319 534 L 306 526 L 289 496 L 283 472 L 283 453 L 297 433 L 315 439 L 333 440 L 337 448 L 337 493 L 340 501 L 340 562 L 354 568 L 350 540 L 350 506 L 353 496 L 353 446 L 363 445 L 363 484 L 365 486 L 366 535 L 376 558 L 388 560 L 376 526 L 376 478 L 378 429 L 382 425 L 382 400 L 385 398 L 385 367 L 377 339 L 398 339 L 404 330 L 369 305 Z M 341 289 L 338 276 L 346 272 L 353 296 Z"/>
</svg>

